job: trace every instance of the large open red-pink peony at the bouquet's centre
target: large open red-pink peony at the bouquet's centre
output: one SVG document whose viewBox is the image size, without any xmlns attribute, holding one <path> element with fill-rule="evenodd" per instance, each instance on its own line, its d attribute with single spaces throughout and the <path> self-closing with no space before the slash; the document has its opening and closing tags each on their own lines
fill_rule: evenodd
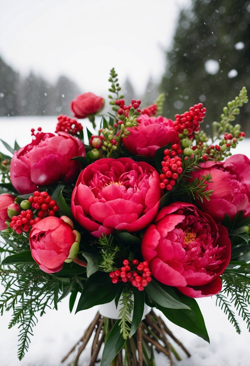
<svg viewBox="0 0 250 366">
<path fill-rule="evenodd" d="M 114 229 L 138 231 L 157 214 L 159 184 L 159 174 L 148 163 L 103 158 L 80 173 L 71 210 L 78 223 L 98 238 Z"/>
</svg>

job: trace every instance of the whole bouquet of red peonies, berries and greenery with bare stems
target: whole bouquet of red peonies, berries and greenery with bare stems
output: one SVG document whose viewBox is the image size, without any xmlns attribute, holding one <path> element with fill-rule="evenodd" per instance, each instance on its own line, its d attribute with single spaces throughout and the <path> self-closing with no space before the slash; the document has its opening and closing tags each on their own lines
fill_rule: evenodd
<svg viewBox="0 0 250 366">
<path fill-rule="evenodd" d="M 73 365 L 92 334 L 89 365 L 151 366 L 154 349 L 172 365 L 173 341 L 190 356 L 157 314 L 209 341 L 199 297 L 217 296 L 240 332 L 235 306 L 250 329 L 250 161 L 231 153 L 245 137 L 232 122 L 246 88 L 209 137 L 202 103 L 171 120 L 164 94 L 141 109 L 125 104 L 114 69 L 109 81 L 111 112 L 97 129 L 103 98 L 71 102 L 94 133 L 59 116 L 55 133 L 32 129 L 25 147 L 3 142 L 13 156 L 0 154 L 0 309 L 13 309 L 19 359 L 37 313 L 66 296 L 70 311 L 98 306 L 62 360 L 77 349 Z"/>
</svg>

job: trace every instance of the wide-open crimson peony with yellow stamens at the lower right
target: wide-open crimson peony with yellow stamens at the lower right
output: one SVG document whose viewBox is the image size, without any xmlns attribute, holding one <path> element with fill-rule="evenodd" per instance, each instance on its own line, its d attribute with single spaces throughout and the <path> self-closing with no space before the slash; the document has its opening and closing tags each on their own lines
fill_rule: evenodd
<svg viewBox="0 0 250 366">
<path fill-rule="evenodd" d="M 152 275 L 194 298 L 221 290 L 220 275 L 230 261 L 227 229 L 191 203 L 164 207 L 141 242 Z"/>
</svg>

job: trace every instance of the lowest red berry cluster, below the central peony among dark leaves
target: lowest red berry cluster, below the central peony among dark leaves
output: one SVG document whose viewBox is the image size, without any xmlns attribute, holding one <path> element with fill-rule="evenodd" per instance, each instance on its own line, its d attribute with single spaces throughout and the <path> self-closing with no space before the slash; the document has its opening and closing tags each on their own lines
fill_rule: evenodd
<svg viewBox="0 0 250 366">
<path fill-rule="evenodd" d="M 148 262 L 140 262 L 137 259 L 133 259 L 129 265 L 129 260 L 124 259 L 122 262 L 124 267 L 110 272 L 109 276 L 113 283 L 118 281 L 130 282 L 132 286 L 138 288 L 139 291 L 143 291 L 144 287 L 152 280 L 151 272 L 148 268 Z M 132 269 L 132 265 L 134 269 Z"/>
</svg>

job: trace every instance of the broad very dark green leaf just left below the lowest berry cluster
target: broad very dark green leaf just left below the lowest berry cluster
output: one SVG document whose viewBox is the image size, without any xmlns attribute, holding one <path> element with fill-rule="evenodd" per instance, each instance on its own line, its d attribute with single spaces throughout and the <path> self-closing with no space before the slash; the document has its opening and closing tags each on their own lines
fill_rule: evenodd
<svg viewBox="0 0 250 366">
<path fill-rule="evenodd" d="M 93 273 L 82 290 L 76 313 L 112 301 L 118 294 L 121 285 L 122 283 L 113 284 L 107 273 Z"/>
</svg>

